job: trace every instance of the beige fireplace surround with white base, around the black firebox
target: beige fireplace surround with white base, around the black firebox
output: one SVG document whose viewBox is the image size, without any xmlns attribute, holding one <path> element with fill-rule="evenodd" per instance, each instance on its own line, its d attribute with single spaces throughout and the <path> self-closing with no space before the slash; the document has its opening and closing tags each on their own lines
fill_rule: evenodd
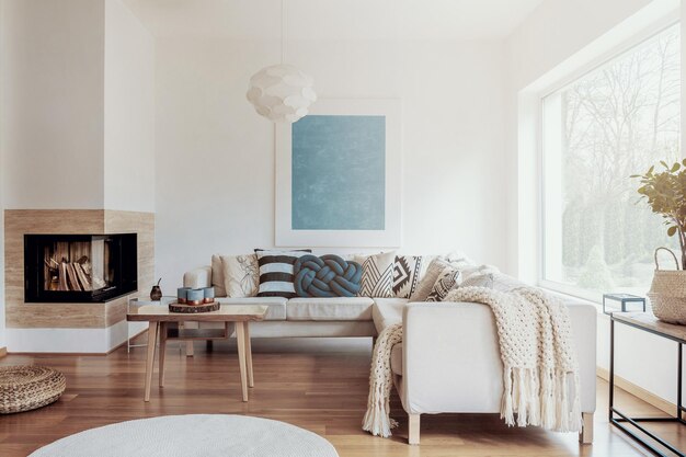
<svg viewBox="0 0 686 457">
<path fill-rule="evenodd" d="M 70 304 L 24 302 L 24 235 L 138 233 L 138 293 L 110 301 Z M 8 334 L 23 329 L 24 339 L 59 340 L 65 331 L 81 332 L 84 347 L 79 352 L 107 352 L 121 343 L 130 295 L 146 295 L 155 275 L 155 214 L 111 209 L 7 209 L 4 212 L 5 320 Z M 114 332 L 113 329 L 117 331 Z M 43 331 L 42 331 L 43 330 Z M 115 335 L 113 335 L 116 333 Z M 60 352 L 59 341 L 54 342 Z M 89 344 L 90 343 L 90 344 Z M 49 342 L 42 343 L 43 346 Z M 21 347 L 41 346 L 22 343 Z M 69 351 L 71 352 L 71 351 Z"/>
</svg>

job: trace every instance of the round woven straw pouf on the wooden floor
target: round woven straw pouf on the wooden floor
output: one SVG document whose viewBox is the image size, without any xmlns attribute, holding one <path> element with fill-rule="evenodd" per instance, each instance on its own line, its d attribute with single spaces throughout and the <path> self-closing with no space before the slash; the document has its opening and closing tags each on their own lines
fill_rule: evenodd
<svg viewBox="0 0 686 457">
<path fill-rule="evenodd" d="M 0 366 L 0 413 L 45 407 L 65 391 L 65 375 L 34 365 Z"/>
</svg>

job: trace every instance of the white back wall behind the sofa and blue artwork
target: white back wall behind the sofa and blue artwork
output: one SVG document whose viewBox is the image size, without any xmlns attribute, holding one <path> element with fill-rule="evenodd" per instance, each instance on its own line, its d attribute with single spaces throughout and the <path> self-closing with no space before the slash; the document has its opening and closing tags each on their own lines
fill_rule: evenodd
<svg viewBox="0 0 686 457">
<path fill-rule="evenodd" d="M 273 245 L 274 128 L 245 91 L 279 56 L 276 42 L 156 47 L 156 265 L 172 288 L 215 252 Z M 302 41 L 288 43 L 288 60 L 320 98 L 402 99 L 403 251 L 503 263 L 501 44 Z"/>
</svg>

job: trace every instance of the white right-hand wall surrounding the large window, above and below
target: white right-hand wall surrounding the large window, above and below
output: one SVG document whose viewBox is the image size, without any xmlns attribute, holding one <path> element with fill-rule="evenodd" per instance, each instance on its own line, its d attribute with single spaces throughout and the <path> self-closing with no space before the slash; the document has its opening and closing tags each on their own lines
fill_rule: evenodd
<svg viewBox="0 0 686 457">
<path fill-rule="evenodd" d="M 538 277 L 540 219 L 536 181 L 540 162 L 536 116 L 540 90 L 580 66 L 603 58 L 617 43 L 640 33 L 675 5 L 671 0 L 549 0 L 508 38 L 506 149 L 508 167 L 518 170 L 518 175 L 507 183 L 507 264 L 518 275 Z M 607 369 L 609 319 L 605 315 L 598 317 L 597 339 L 597 364 Z M 617 375 L 675 402 L 676 345 L 619 324 L 615 341 Z"/>
</svg>

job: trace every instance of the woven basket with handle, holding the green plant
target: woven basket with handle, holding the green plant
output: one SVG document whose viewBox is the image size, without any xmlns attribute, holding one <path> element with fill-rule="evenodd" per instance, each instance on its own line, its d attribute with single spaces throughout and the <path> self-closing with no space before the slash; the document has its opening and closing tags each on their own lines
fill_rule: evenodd
<svg viewBox="0 0 686 457">
<path fill-rule="evenodd" d="M 660 270 L 658 251 L 672 254 L 677 270 Z M 653 307 L 653 315 L 668 323 L 686 324 L 686 271 L 678 270 L 678 260 L 667 248 L 655 250 L 655 274 L 648 298 Z"/>
</svg>

